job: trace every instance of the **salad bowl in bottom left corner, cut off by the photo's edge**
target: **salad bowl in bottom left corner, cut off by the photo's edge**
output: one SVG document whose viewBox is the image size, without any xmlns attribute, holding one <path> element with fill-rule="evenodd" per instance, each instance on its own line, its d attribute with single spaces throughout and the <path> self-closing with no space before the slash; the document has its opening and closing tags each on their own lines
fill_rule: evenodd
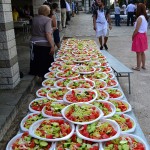
<svg viewBox="0 0 150 150">
<path fill-rule="evenodd" d="M 21 149 L 47 149 L 53 150 L 54 144 L 31 137 L 28 132 L 20 133 L 14 136 L 7 144 L 6 150 Z M 42 149 L 41 149 L 42 148 Z"/>
</svg>

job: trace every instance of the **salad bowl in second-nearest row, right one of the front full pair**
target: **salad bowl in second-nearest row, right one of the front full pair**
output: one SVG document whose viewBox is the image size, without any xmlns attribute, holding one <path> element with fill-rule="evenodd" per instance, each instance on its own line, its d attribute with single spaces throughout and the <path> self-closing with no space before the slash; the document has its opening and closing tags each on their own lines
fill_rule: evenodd
<svg viewBox="0 0 150 150">
<path fill-rule="evenodd" d="M 118 123 L 110 119 L 100 119 L 87 125 L 77 125 L 77 135 L 84 140 L 92 142 L 105 142 L 120 136 Z"/>
</svg>

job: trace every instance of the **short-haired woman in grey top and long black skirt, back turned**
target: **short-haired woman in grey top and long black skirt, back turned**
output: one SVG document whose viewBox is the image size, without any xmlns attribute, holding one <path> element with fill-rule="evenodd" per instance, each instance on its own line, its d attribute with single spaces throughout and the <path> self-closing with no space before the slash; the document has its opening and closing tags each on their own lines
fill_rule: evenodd
<svg viewBox="0 0 150 150">
<path fill-rule="evenodd" d="M 42 5 L 38 9 L 38 16 L 33 18 L 32 37 L 30 39 L 30 72 L 40 80 L 54 61 L 54 42 L 52 37 L 52 22 L 48 17 L 50 7 Z"/>
</svg>

